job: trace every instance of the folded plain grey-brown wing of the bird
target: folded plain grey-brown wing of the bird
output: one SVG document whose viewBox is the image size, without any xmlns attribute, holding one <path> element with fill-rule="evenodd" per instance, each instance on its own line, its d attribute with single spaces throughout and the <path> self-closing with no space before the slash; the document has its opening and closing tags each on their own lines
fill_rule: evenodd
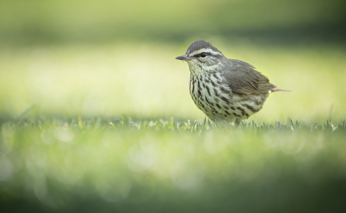
<svg viewBox="0 0 346 213">
<path fill-rule="evenodd" d="M 269 79 L 243 61 L 229 59 L 224 72 L 228 86 L 238 94 L 261 94 L 276 88 Z"/>
</svg>

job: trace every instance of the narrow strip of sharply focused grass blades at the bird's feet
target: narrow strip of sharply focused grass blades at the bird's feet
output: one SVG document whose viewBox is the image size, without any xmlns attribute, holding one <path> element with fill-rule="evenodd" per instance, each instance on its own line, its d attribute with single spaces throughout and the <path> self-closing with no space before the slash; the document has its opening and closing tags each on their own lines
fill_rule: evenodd
<svg viewBox="0 0 346 213">
<path fill-rule="evenodd" d="M 16 121 L 16 122 L 15 122 Z M 240 130 L 240 131 L 254 131 L 256 132 L 270 132 L 270 131 L 311 131 L 315 132 L 345 132 L 346 125 L 345 120 L 340 121 L 337 125 L 333 125 L 329 120 L 324 121 L 323 124 L 319 124 L 316 121 L 313 124 L 307 124 L 304 120 L 296 120 L 293 122 L 292 119 L 289 120 L 289 123 L 280 123 L 275 122 L 274 124 L 265 124 L 265 123 L 255 123 L 253 120 L 250 122 L 240 121 L 238 125 L 234 124 L 220 124 L 210 122 L 209 119 L 204 118 L 204 121 L 175 121 L 173 118 L 170 120 L 157 119 L 157 120 L 145 120 L 145 121 L 133 121 L 132 118 L 127 116 L 121 116 L 118 118 L 72 118 L 64 119 L 52 117 L 47 120 L 42 119 L 17 119 L 12 122 L 7 122 L 7 125 L 17 126 L 19 129 L 25 128 L 28 125 L 38 126 L 39 129 L 44 130 L 46 126 L 65 125 L 65 128 L 79 129 L 84 133 L 84 131 L 93 131 L 93 130 L 126 130 L 126 131 L 173 131 L 173 132 L 191 132 L 191 133 L 202 133 L 203 131 L 208 131 L 209 129 L 222 129 L 222 130 Z"/>
</svg>

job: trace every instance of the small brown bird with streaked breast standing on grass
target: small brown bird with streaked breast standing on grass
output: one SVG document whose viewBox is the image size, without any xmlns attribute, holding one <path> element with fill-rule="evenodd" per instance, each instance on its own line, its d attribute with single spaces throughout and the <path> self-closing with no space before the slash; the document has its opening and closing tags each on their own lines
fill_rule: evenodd
<svg viewBox="0 0 346 213">
<path fill-rule="evenodd" d="M 276 89 L 267 77 L 244 62 L 228 59 L 206 41 L 193 42 L 185 55 L 190 68 L 190 94 L 197 107 L 215 122 L 249 118 L 262 109 Z"/>
</svg>

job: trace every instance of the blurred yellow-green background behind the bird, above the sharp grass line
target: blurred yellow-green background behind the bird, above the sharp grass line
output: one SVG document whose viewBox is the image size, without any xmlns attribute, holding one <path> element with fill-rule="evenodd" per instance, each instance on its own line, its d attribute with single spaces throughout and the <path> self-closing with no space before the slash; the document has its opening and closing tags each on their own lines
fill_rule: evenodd
<svg viewBox="0 0 346 213">
<path fill-rule="evenodd" d="M 6 1 L 0 113 L 204 119 L 174 58 L 207 40 L 279 88 L 253 119 L 345 117 L 344 1 Z"/>
</svg>

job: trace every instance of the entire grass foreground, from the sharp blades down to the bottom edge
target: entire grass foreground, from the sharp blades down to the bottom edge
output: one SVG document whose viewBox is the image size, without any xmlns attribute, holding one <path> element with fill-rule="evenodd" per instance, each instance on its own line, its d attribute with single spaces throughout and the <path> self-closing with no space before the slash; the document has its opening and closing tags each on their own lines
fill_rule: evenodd
<svg viewBox="0 0 346 213">
<path fill-rule="evenodd" d="M 3 121 L 1 127 L 0 193 L 12 211 L 344 207 L 345 121 L 234 127 L 80 116 Z"/>
</svg>

